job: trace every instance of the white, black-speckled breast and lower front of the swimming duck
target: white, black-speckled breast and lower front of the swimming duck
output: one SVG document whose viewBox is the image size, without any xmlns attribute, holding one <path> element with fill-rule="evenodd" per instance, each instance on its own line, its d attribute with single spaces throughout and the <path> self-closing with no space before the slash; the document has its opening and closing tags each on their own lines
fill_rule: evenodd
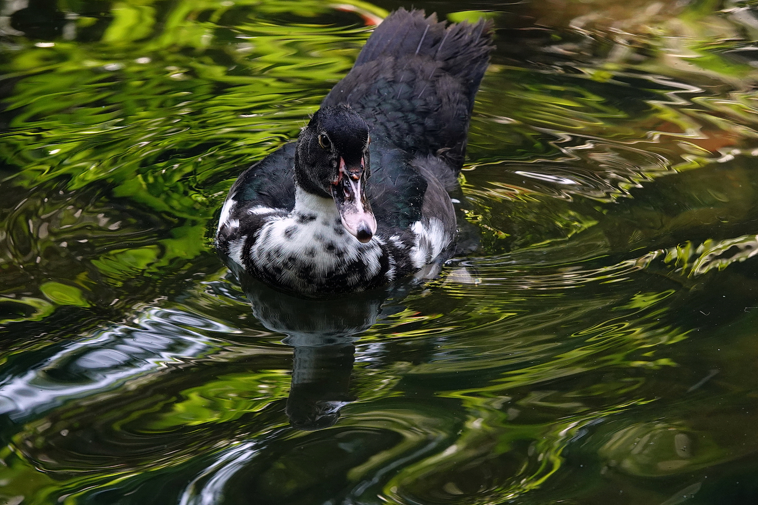
<svg viewBox="0 0 758 505">
<path fill-rule="evenodd" d="M 255 227 L 243 226 L 255 217 Z M 363 244 L 343 226 L 331 198 L 296 189 L 291 212 L 232 198 L 221 210 L 219 236 L 228 256 L 259 279 L 305 295 L 362 291 L 431 263 L 453 243 L 436 217 L 407 232 L 374 235 Z"/>
</svg>

